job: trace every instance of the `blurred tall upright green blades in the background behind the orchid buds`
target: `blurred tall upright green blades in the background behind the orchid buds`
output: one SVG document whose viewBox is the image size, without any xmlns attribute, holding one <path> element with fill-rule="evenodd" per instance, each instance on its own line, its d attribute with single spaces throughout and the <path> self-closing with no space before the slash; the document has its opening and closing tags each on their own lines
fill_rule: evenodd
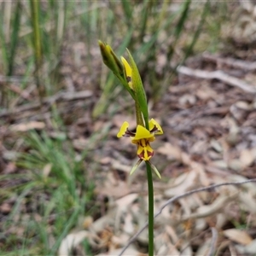
<svg viewBox="0 0 256 256">
<path fill-rule="evenodd" d="M 31 3 L 31 8 L 28 3 Z M 171 9 L 172 2 L 167 0 L 160 2 L 145 0 L 136 3 L 122 0 L 120 5 L 110 2 L 110 8 L 107 8 L 103 2 L 88 1 L 82 1 L 79 4 L 49 1 L 43 4 L 30 0 L 28 3 L 22 3 L 21 8 L 20 1 L 3 3 L 3 9 L 0 9 L 2 21 L 0 25 L 2 50 L 0 62 L 2 63 L 0 65 L 4 67 L 7 75 L 15 74 L 17 50 L 19 52 L 26 50 L 34 60 L 33 68 L 30 73 L 26 73 L 26 76 L 36 77 L 38 94 L 41 97 L 53 95 L 60 90 L 57 84 L 61 47 L 65 32 L 69 31 L 68 27 L 75 27 L 72 29 L 73 33 L 78 32 L 78 40 L 82 38 L 86 45 L 88 54 L 85 61 L 90 72 L 95 68 L 91 66 L 94 56 L 90 53 L 98 38 L 113 45 L 117 55 L 123 55 L 125 48 L 128 48 L 137 62 L 143 80 L 149 82 L 148 95 L 157 102 L 160 95 L 165 93 L 165 81 L 170 78 L 172 72 L 169 63 L 177 59 L 176 48 L 181 48 L 180 42 L 183 41 L 184 35 L 188 34 L 186 22 L 194 19 L 193 15 L 195 15 L 190 9 L 192 3 L 190 0 L 178 3 L 175 9 Z M 207 6 L 209 3 L 204 5 Z M 8 13 L 5 10 L 7 8 L 13 15 L 5 15 Z M 22 9 L 26 9 L 26 12 L 21 12 Z M 199 12 L 205 13 L 203 9 Z M 200 25 L 195 22 L 194 26 L 197 26 L 194 40 L 189 45 L 182 46 L 184 52 L 179 56 L 180 61 L 192 52 L 201 34 L 202 23 Z M 21 34 L 20 31 L 27 32 Z M 28 38 L 31 41 L 30 44 L 27 44 Z M 28 49 L 24 48 L 24 45 Z M 162 67 L 163 77 L 159 79 L 155 63 L 163 48 L 166 49 L 167 61 Z M 176 62 L 178 63 L 177 60 Z M 95 117 L 101 115 L 102 110 L 109 105 L 111 100 L 109 95 L 116 89 L 116 83 L 111 75 L 101 80 L 101 84 L 104 84 L 101 86 L 103 93 L 94 108 Z M 13 96 L 12 94 L 9 101 Z"/>
</svg>

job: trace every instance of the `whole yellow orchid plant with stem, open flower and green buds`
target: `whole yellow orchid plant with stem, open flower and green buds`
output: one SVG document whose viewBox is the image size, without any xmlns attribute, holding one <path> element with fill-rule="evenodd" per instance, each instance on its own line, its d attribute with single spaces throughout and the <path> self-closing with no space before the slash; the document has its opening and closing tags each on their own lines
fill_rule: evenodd
<svg viewBox="0 0 256 256">
<path fill-rule="evenodd" d="M 131 137 L 131 143 L 137 145 L 137 156 L 139 160 L 132 167 L 131 174 L 136 171 L 141 162 L 144 161 L 146 164 L 148 179 L 148 255 L 154 256 L 154 187 L 152 169 L 158 177 L 160 177 L 160 173 L 150 163 L 154 154 L 150 143 L 154 142 L 155 135 L 163 134 L 163 131 L 154 119 L 148 120 L 148 102 L 143 81 L 130 51 L 127 49 L 129 61 L 126 61 L 124 57 L 121 57 L 121 60 L 119 60 L 119 57 L 114 54 L 113 49 L 108 44 L 99 41 L 99 46 L 102 52 L 103 62 L 112 70 L 125 90 L 130 93 L 135 103 L 137 119 L 136 132 L 130 131 L 128 129 L 129 123 L 124 122 L 117 137 Z"/>
</svg>

